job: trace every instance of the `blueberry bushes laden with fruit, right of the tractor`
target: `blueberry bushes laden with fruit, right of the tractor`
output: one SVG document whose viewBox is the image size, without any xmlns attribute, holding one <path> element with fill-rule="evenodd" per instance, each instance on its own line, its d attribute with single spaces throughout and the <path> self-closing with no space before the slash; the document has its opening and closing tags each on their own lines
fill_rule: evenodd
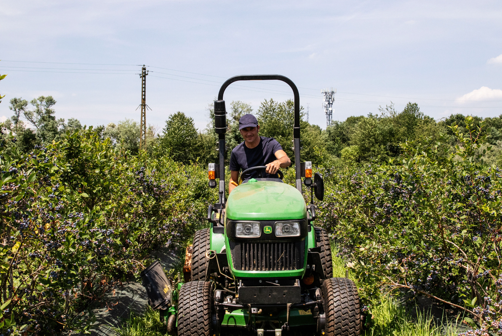
<svg viewBox="0 0 502 336">
<path fill-rule="evenodd" d="M 403 143 L 387 163 L 322 168 L 320 217 L 363 310 L 388 293 L 426 295 L 465 311 L 465 334 L 502 334 L 502 171 L 483 160 L 483 122 L 467 117 L 465 129 L 451 126 L 453 150 L 444 135 Z"/>
</svg>

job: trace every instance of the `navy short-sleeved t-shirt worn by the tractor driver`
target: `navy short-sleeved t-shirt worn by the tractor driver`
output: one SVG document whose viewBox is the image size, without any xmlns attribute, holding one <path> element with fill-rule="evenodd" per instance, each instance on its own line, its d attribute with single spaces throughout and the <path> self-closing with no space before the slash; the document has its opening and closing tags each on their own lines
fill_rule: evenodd
<svg viewBox="0 0 502 336">
<path fill-rule="evenodd" d="M 282 150 L 281 144 L 276 139 L 265 136 L 260 136 L 260 144 L 255 148 L 248 148 L 244 142 L 239 143 L 232 149 L 232 154 L 230 155 L 231 171 L 245 171 L 250 167 L 266 165 L 276 160 L 276 156 L 274 155 L 276 151 Z M 258 171 L 246 173 L 246 176 L 243 176 L 242 180 L 256 177 L 257 174 Z M 277 177 L 277 174 L 270 177 Z"/>
</svg>

